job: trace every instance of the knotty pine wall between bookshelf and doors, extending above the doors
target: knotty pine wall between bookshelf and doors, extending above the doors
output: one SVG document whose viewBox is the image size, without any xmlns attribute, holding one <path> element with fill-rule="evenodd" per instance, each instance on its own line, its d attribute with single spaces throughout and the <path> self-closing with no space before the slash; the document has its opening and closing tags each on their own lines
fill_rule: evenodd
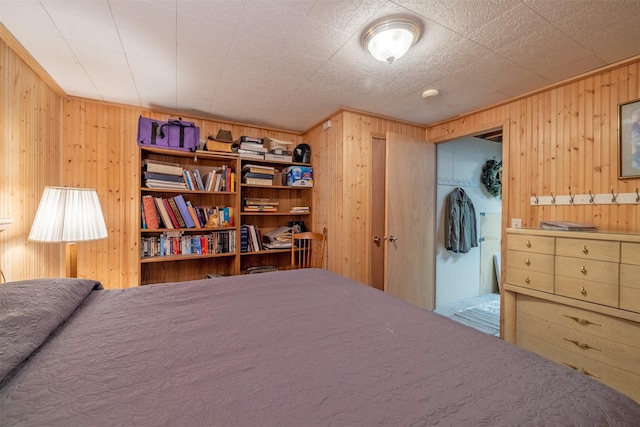
<svg viewBox="0 0 640 427">
<path fill-rule="evenodd" d="M 327 228 L 329 270 L 370 283 L 371 137 L 424 139 L 425 128 L 346 109 L 329 120 L 331 128 L 319 124 L 304 135 L 313 155 L 314 228 Z"/>
</svg>

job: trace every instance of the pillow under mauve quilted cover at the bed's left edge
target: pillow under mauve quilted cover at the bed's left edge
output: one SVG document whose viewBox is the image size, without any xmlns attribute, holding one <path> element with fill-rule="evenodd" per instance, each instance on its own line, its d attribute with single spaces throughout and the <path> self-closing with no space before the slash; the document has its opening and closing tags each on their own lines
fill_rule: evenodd
<svg viewBox="0 0 640 427">
<path fill-rule="evenodd" d="M 0 384 L 45 342 L 100 282 L 36 279 L 0 285 Z"/>
</svg>

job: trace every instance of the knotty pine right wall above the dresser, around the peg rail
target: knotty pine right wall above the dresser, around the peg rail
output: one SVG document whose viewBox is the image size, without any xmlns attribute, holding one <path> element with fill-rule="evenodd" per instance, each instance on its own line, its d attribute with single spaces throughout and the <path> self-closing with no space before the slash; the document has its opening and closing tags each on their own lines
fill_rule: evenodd
<svg viewBox="0 0 640 427">
<path fill-rule="evenodd" d="M 530 197 L 633 193 L 640 179 L 618 178 L 618 105 L 640 98 L 640 57 L 508 103 L 427 128 L 442 142 L 504 126 L 503 225 L 522 218 L 595 224 L 640 232 L 638 205 L 536 206 Z M 503 227 L 504 228 L 504 227 Z"/>
</svg>

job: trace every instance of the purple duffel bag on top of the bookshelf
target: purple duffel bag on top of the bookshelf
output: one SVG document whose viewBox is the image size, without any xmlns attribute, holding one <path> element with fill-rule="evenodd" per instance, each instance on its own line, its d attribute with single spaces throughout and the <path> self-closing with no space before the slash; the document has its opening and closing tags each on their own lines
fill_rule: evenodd
<svg viewBox="0 0 640 427">
<path fill-rule="evenodd" d="M 200 142 L 200 128 L 182 119 L 168 121 L 147 117 L 138 119 L 138 145 L 179 151 L 196 151 Z"/>
</svg>

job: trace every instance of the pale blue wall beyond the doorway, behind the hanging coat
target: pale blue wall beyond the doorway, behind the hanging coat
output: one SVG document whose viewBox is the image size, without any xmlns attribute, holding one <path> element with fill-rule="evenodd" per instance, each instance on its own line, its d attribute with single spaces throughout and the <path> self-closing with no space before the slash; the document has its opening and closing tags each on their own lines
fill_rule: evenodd
<svg viewBox="0 0 640 427">
<path fill-rule="evenodd" d="M 480 182 L 487 160 L 502 161 L 501 140 L 469 136 L 437 145 L 436 312 L 441 314 L 452 307 L 462 310 L 478 301 L 499 300 L 502 200 Z M 467 253 L 448 251 L 444 244 L 444 207 L 458 187 L 476 212 L 478 246 Z"/>
</svg>

